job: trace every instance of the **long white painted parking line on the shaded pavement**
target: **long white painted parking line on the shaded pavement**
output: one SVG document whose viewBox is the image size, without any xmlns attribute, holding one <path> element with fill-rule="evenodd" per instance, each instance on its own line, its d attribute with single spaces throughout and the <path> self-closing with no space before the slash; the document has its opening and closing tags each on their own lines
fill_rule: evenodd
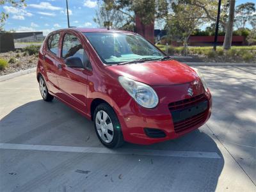
<svg viewBox="0 0 256 192">
<path fill-rule="evenodd" d="M 164 156 L 164 157 L 195 157 L 221 159 L 216 152 L 196 152 L 196 151 L 175 151 L 175 150 L 143 150 L 132 148 L 118 148 L 111 150 L 104 147 L 70 147 L 55 145 L 25 145 L 13 143 L 0 143 L 0 149 L 15 150 L 42 150 L 42 151 L 58 151 L 58 152 L 77 152 L 77 153 L 96 153 L 96 154 L 125 154 L 140 156 Z"/>
</svg>

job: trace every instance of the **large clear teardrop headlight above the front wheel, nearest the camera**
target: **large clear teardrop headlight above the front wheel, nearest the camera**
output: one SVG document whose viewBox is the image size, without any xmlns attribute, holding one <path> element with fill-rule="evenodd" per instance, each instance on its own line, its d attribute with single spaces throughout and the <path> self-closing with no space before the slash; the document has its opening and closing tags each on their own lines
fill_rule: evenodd
<svg viewBox="0 0 256 192">
<path fill-rule="evenodd" d="M 143 106 L 144 108 L 154 108 L 157 106 L 157 94 L 147 84 L 123 76 L 118 77 L 118 81 L 129 95 L 140 104 L 140 106 Z"/>
</svg>

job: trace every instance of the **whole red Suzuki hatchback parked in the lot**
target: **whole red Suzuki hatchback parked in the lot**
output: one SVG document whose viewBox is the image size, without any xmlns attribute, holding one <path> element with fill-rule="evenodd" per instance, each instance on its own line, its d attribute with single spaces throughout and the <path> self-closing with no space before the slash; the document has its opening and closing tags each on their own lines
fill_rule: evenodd
<svg viewBox="0 0 256 192">
<path fill-rule="evenodd" d="M 109 148 L 178 138 L 211 115 L 202 74 L 127 31 L 54 31 L 42 44 L 36 74 L 43 99 L 56 97 L 93 120 Z"/>
</svg>

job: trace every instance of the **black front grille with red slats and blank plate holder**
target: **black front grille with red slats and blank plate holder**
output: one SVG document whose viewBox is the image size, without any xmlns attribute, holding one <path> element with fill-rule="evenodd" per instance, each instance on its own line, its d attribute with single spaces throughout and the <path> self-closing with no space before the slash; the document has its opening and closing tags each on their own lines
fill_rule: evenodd
<svg viewBox="0 0 256 192">
<path fill-rule="evenodd" d="M 174 131 L 176 133 L 202 124 L 208 114 L 208 101 L 204 94 L 191 97 L 190 99 L 172 102 L 168 107 L 172 113 Z"/>
</svg>

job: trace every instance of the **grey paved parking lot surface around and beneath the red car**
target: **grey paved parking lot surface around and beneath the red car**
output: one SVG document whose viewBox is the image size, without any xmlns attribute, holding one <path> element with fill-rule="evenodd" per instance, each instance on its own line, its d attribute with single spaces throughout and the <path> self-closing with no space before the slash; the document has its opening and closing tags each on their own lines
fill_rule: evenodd
<svg viewBox="0 0 256 192">
<path fill-rule="evenodd" d="M 44 102 L 35 73 L 0 82 L 0 191 L 256 191 L 256 68 L 198 67 L 206 125 L 177 140 L 104 148 L 93 124 Z"/>
</svg>

